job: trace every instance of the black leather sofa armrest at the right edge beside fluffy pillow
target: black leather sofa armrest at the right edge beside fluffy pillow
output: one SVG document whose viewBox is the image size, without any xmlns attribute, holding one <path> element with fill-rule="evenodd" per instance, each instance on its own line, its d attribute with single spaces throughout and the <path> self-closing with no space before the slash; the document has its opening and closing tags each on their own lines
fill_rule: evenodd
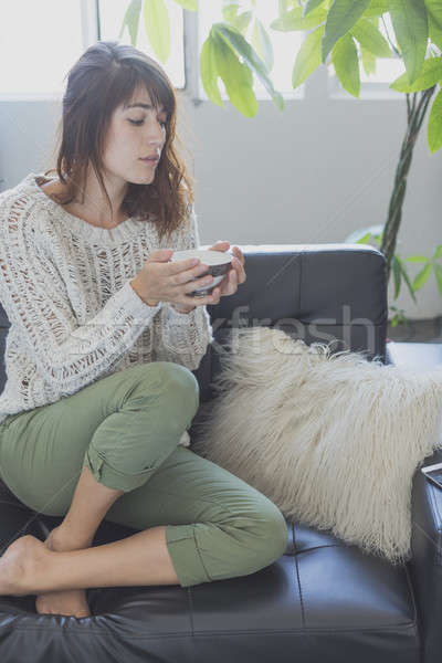
<svg viewBox="0 0 442 663">
<path fill-rule="evenodd" d="M 428 456 L 423 465 L 442 463 L 442 450 Z M 442 490 L 434 486 L 419 467 L 411 498 L 411 549 L 409 562 L 421 620 L 425 663 L 442 656 Z"/>
</svg>

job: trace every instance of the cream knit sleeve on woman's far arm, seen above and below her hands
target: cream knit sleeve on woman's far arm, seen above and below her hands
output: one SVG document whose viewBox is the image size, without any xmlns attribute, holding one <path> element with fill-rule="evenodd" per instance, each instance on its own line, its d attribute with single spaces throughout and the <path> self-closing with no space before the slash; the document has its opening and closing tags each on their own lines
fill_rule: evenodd
<svg viewBox="0 0 442 663">
<path fill-rule="evenodd" d="M 198 249 L 200 236 L 194 207 L 191 207 L 186 227 L 180 232 L 177 245 L 180 251 Z M 179 313 L 164 302 L 154 325 L 154 354 L 157 360 L 175 361 L 196 370 L 213 340 L 210 316 L 206 306 L 197 306 L 190 313 Z"/>
</svg>

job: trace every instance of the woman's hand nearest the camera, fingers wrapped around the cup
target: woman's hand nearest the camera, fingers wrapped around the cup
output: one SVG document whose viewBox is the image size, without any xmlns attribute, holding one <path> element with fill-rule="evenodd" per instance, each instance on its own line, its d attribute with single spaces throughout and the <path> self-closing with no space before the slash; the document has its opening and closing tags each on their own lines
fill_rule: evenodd
<svg viewBox="0 0 442 663">
<path fill-rule="evenodd" d="M 214 297 L 210 294 L 204 297 L 191 297 L 188 294 L 213 281 L 207 274 L 209 266 L 200 260 L 197 265 L 192 265 L 193 259 L 168 262 L 172 254 L 173 249 L 158 249 L 150 253 L 143 269 L 130 281 L 137 295 L 149 306 L 156 306 L 158 302 L 185 306 L 212 304 Z M 202 274 L 207 276 L 201 277 Z"/>
</svg>

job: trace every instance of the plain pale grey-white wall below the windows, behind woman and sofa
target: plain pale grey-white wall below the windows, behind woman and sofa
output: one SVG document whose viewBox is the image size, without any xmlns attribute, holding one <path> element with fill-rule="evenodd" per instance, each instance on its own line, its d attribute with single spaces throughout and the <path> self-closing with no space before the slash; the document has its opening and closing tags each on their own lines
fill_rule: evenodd
<svg viewBox="0 0 442 663">
<path fill-rule="evenodd" d="M 319 74 L 318 74 L 319 75 Z M 311 96 L 280 112 L 261 101 L 254 118 L 230 102 L 193 105 L 180 95 L 194 155 L 201 242 L 320 244 L 343 242 L 358 228 L 386 221 L 401 140 L 404 97 Z M 0 190 L 48 161 L 60 102 L 0 102 Z M 428 119 L 428 118 L 427 118 Z M 191 161 L 192 164 L 192 161 Z M 442 243 L 442 150 L 430 156 L 427 122 L 414 148 L 403 207 L 401 256 L 432 255 Z M 410 263 L 413 276 L 420 266 Z M 349 275 L 350 276 L 350 275 Z M 410 319 L 442 314 L 433 275 L 413 303 L 403 288 L 393 302 Z"/>
</svg>

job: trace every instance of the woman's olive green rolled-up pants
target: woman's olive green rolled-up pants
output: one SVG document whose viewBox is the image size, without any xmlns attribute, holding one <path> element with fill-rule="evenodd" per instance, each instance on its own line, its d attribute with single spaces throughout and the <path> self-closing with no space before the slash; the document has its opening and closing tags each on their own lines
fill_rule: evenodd
<svg viewBox="0 0 442 663">
<path fill-rule="evenodd" d="M 124 491 L 106 519 L 166 525 L 181 587 L 253 573 L 284 554 L 286 523 L 265 495 L 179 444 L 198 407 L 199 385 L 186 367 L 124 369 L 9 415 L 0 424 L 0 476 L 36 513 L 63 516 L 86 465 L 97 482 Z"/>
</svg>

